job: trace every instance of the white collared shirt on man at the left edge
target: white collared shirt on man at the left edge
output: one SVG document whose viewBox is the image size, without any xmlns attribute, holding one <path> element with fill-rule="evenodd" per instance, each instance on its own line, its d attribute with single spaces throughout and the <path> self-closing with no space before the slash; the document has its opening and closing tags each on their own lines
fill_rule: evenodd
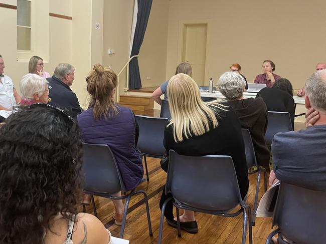
<svg viewBox="0 0 326 244">
<path fill-rule="evenodd" d="M 13 107 L 17 105 L 14 97 L 14 83 L 12 79 L 6 75 L 0 76 L 0 79 L 0 105 L 9 110 L 13 110 Z M 12 111 L 0 110 L 0 115 L 5 118 L 11 113 Z"/>
</svg>

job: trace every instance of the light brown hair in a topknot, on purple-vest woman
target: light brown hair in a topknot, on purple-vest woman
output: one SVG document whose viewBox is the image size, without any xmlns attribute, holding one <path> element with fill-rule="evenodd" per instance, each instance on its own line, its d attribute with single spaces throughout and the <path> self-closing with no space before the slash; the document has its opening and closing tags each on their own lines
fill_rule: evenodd
<svg viewBox="0 0 326 244">
<path fill-rule="evenodd" d="M 94 119 L 101 116 L 105 119 L 116 116 L 119 112 L 113 100 L 114 89 L 117 86 L 116 74 L 101 64 L 95 64 L 86 78 L 87 91 L 91 95 L 89 107 L 93 108 Z"/>
</svg>

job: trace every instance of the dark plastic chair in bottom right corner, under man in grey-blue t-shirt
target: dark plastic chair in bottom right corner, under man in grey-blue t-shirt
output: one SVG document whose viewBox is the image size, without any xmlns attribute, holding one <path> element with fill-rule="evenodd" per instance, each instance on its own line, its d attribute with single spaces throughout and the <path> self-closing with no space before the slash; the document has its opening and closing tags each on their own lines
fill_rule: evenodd
<svg viewBox="0 0 326 244">
<path fill-rule="evenodd" d="M 326 192 L 281 182 L 273 214 L 272 231 L 266 240 L 279 233 L 280 243 L 326 243 Z"/>
</svg>

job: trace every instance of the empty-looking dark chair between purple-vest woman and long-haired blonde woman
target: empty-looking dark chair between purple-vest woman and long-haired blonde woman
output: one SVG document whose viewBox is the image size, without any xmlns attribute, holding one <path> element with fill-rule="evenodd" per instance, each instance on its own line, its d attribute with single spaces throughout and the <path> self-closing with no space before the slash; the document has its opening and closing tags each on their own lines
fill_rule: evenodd
<svg viewBox="0 0 326 244">
<path fill-rule="evenodd" d="M 166 152 L 163 145 L 164 129 L 169 119 L 142 115 L 135 115 L 135 118 L 139 126 L 137 149 L 144 157 L 147 181 L 149 181 L 146 157 L 163 157 Z"/>
</svg>

